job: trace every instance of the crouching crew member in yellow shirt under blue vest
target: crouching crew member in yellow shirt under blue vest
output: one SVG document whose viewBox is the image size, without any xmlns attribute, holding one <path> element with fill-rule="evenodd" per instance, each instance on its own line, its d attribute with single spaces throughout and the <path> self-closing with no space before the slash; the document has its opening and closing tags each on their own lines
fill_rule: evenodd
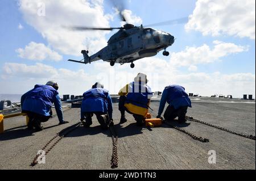
<svg viewBox="0 0 256 181">
<path fill-rule="evenodd" d="M 132 114 L 138 126 L 142 126 L 148 113 L 152 92 L 147 86 L 147 75 L 139 73 L 134 78 L 134 82 L 123 87 L 118 95 L 119 111 L 121 112 L 120 124 L 127 121 L 125 111 Z"/>
</svg>

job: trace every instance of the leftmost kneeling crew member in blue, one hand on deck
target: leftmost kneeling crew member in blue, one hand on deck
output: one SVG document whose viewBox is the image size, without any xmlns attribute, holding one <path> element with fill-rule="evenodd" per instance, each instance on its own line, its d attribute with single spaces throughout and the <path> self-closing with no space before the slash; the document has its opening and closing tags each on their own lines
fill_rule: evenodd
<svg viewBox="0 0 256 181">
<path fill-rule="evenodd" d="M 34 89 L 26 92 L 20 99 L 22 112 L 29 117 L 28 129 L 35 127 L 36 131 L 44 128 L 41 122 L 46 122 L 52 117 L 51 107 L 55 106 L 59 124 L 68 123 L 63 120 L 63 111 L 60 103 L 59 86 L 55 81 L 49 81 L 46 85 L 35 85 Z"/>
</svg>

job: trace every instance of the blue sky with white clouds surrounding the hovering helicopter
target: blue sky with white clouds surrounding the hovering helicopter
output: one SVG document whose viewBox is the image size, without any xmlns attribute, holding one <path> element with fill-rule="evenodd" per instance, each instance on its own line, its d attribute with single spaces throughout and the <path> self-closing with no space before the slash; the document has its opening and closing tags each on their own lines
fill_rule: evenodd
<svg viewBox="0 0 256 181">
<path fill-rule="evenodd" d="M 23 94 L 48 79 L 59 82 L 60 94 L 82 94 L 96 81 L 116 93 L 143 72 L 155 91 L 177 83 L 205 96 L 255 96 L 255 1 L 125 1 L 130 23 L 137 26 L 190 15 L 185 24 L 155 27 L 176 37 L 167 49 L 170 57 L 160 52 L 135 61 L 134 69 L 129 65 L 112 68 L 102 61 L 91 65 L 67 61 L 81 60 L 81 49 L 96 53 L 114 31 L 66 32 L 60 26 L 121 26 L 107 0 L 69 3 L 0 1 L 0 83 L 4 85 L 0 94 Z M 45 16 L 38 15 L 42 7 Z"/>
</svg>

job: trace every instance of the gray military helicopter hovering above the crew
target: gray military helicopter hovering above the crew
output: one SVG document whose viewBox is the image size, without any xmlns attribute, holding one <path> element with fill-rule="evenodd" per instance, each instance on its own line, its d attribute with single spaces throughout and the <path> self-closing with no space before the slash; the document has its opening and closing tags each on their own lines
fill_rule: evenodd
<svg viewBox="0 0 256 181">
<path fill-rule="evenodd" d="M 120 11 L 119 11 L 120 12 Z M 127 22 L 123 14 L 121 14 L 123 22 Z M 162 23 L 151 24 L 151 26 L 159 26 L 162 24 L 178 24 L 184 23 L 184 18 L 171 20 Z M 158 54 L 161 50 L 163 56 L 169 56 L 167 48 L 174 44 L 175 37 L 170 33 L 155 30 L 151 27 L 140 27 L 134 26 L 133 24 L 126 23 L 122 27 L 117 28 L 94 28 L 94 27 L 71 27 L 72 30 L 86 31 L 86 30 L 102 30 L 112 31 L 118 30 L 110 37 L 108 45 L 102 48 L 91 56 L 88 55 L 88 50 L 81 50 L 84 59 L 81 61 L 68 60 L 81 64 L 91 64 L 94 61 L 103 60 L 110 62 L 110 66 L 115 64 L 126 64 L 130 63 L 130 67 L 134 68 L 134 61 L 145 57 L 152 57 Z"/>
</svg>

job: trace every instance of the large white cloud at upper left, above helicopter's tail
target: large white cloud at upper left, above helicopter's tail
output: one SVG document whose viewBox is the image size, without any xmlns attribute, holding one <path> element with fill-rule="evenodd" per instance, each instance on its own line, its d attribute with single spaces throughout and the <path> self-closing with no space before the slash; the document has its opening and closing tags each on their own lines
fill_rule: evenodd
<svg viewBox="0 0 256 181">
<path fill-rule="evenodd" d="M 19 0 L 19 5 L 24 20 L 41 33 L 53 49 L 61 53 L 81 56 L 81 50 L 92 40 L 95 43 L 95 46 L 90 47 L 92 53 L 106 45 L 105 35 L 109 31 L 81 32 L 64 28 L 109 27 L 111 16 L 104 14 L 103 1 Z"/>
</svg>

